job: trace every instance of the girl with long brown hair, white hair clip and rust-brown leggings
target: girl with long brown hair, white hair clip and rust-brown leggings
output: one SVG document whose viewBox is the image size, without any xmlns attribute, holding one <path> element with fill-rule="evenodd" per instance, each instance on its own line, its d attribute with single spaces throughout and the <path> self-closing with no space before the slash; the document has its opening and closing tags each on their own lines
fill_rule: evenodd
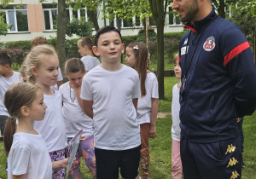
<svg viewBox="0 0 256 179">
<path fill-rule="evenodd" d="M 156 118 L 158 112 L 158 82 L 154 72 L 147 69 L 148 49 L 144 43 L 130 43 L 126 47 L 125 61 L 128 66 L 137 70 L 141 80 L 141 97 L 137 104 L 137 122 L 141 128 L 141 174 L 149 175 L 148 137 L 156 137 Z"/>
</svg>

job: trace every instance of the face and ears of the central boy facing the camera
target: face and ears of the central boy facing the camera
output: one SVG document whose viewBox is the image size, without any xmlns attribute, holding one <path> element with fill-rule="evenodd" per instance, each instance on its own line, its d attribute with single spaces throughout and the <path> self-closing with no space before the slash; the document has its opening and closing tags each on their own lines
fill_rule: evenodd
<svg viewBox="0 0 256 179">
<path fill-rule="evenodd" d="M 102 61 L 113 63 L 120 60 L 125 52 L 125 44 L 122 43 L 118 32 L 106 32 L 99 37 L 98 45 L 93 47 L 93 52 L 101 56 Z"/>
</svg>

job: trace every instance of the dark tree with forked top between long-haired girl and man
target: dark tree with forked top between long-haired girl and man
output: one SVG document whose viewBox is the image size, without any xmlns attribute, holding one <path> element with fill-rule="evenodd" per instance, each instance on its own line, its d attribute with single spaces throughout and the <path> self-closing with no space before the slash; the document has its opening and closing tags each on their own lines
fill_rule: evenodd
<svg viewBox="0 0 256 179">
<path fill-rule="evenodd" d="M 168 0 L 149 0 L 149 4 L 157 27 L 157 78 L 159 83 L 159 99 L 164 99 L 164 26 Z"/>
</svg>

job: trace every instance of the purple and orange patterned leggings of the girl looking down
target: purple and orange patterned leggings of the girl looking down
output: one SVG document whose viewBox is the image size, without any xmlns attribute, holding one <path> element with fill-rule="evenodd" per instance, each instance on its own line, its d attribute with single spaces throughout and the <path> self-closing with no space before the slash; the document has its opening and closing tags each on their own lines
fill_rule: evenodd
<svg viewBox="0 0 256 179">
<path fill-rule="evenodd" d="M 67 142 L 72 140 L 72 137 L 67 137 Z M 79 148 L 83 154 L 84 161 L 93 179 L 96 179 L 96 157 L 94 149 L 94 137 L 93 136 L 81 136 Z M 76 163 L 73 169 L 69 171 L 73 179 L 81 178 L 80 174 L 80 151 L 76 153 Z"/>
</svg>

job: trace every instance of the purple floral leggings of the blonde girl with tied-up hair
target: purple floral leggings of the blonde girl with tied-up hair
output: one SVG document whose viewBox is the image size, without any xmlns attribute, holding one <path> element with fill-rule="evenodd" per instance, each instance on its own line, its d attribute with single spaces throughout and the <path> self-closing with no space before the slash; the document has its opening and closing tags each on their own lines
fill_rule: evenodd
<svg viewBox="0 0 256 179">
<path fill-rule="evenodd" d="M 49 153 L 49 157 L 52 162 L 65 159 L 65 149 Z M 65 176 L 65 169 L 61 168 L 61 169 L 52 170 L 53 179 L 64 179 L 64 176 Z"/>
</svg>

